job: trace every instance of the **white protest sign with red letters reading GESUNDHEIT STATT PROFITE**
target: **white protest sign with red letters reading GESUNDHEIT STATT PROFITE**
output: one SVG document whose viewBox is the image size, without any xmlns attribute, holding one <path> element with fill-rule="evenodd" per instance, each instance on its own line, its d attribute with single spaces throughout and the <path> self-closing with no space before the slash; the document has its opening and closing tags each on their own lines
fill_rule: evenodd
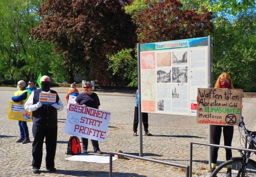
<svg viewBox="0 0 256 177">
<path fill-rule="evenodd" d="M 69 104 L 64 133 L 105 141 L 111 112 Z"/>
</svg>

